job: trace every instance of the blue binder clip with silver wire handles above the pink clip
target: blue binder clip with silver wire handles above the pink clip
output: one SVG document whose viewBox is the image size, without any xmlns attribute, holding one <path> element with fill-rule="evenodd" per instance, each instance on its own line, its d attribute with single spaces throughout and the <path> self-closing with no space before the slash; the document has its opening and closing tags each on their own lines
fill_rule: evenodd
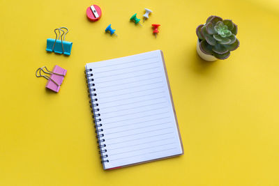
<svg viewBox="0 0 279 186">
<path fill-rule="evenodd" d="M 63 29 L 66 29 L 66 33 L 65 31 L 63 31 Z M 59 31 L 58 37 L 56 31 Z M 62 34 L 60 33 L 60 31 L 62 32 Z M 54 29 L 54 33 L 56 35 L 55 40 L 52 38 L 47 39 L 47 52 L 55 52 L 58 54 L 65 54 L 67 56 L 70 56 L 73 42 L 65 40 L 68 29 L 66 27 L 60 27 L 59 29 Z M 61 40 L 59 40 L 59 38 L 61 38 Z"/>
</svg>

